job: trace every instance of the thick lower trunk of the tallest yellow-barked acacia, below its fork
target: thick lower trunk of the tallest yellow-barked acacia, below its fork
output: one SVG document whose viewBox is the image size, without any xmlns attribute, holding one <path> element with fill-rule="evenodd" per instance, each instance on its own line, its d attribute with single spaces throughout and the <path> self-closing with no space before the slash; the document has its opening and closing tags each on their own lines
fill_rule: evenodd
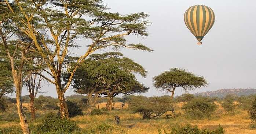
<svg viewBox="0 0 256 134">
<path fill-rule="evenodd" d="M 62 92 L 58 91 L 58 99 L 59 99 L 59 109 L 61 113 L 62 119 L 69 119 L 69 111 L 67 109 L 67 102 L 65 100 L 65 96 Z"/>
</svg>

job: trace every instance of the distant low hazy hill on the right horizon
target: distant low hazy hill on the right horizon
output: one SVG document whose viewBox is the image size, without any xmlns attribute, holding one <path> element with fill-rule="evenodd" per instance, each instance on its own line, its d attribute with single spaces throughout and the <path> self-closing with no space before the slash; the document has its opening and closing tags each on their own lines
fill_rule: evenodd
<svg viewBox="0 0 256 134">
<path fill-rule="evenodd" d="M 202 96 L 210 96 L 210 97 L 218 97 L 218 98 L 223 98 L 225 97 L 227 94 L 233 94 L 236 96 L 248 96 L 248 95 L 252 95 L 252 94 L 256 94 L 256 89 L 254 88 L 249 88 L 249 89 L 242 89 L 242 88 L 238 88 L 238 89 L 220 89 L 217 91 L 207 91 L 207 92 L 200 92 L 200 93 L 195 93 L 195 96 L 198 95 L 202 95 Z"/>
</svg>

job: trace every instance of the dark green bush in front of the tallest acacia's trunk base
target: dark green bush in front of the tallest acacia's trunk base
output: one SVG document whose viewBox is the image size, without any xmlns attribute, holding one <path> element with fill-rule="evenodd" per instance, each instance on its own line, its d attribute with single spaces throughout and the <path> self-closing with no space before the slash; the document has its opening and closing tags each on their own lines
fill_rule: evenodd
<svg viewBox="0 0 256 134">
<path fill-rule="evenodd" d="M 72 131 L 78 130 L 78 126 L 75 122 L 67 119 L 61 119 L 54 113 L 49 113 L 37 126 L 37 130 L 41 132 L 58 131 L 71 133 Z"/>
</svg>

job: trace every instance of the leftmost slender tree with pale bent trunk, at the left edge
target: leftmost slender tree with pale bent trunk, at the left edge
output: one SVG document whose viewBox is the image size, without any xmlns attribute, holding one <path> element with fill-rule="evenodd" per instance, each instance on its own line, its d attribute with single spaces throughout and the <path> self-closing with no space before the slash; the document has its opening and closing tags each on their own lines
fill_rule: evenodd
<svg viewBox="0 0 256 134">
<path fill-rule="evenodd" d="M 11 68 L 12 80 L 16 92 L 16 104 L 17 111 L 20 119 L 20 125 L 24 134 L 29 134 L 28 122 L 23 114 L 22 102 L 21 102 L 21 91 L 24 84 L 23 81 L 23 68 L 25 60 L 27 59 L 26 55 L 29 53 L 30 46 L 33 42 L 27 43 L 22 42 L 21 40 L 11 40 L 11 37 L 18 32 L 18 29 L 14 26 L 14 23 L 11 21 L 12 14 L 8 11 L 7 8 L 4 8 L 3 1 L 0 1 L 0 44 L 1 44 L 1 59 L 9 61 Z M 17 11 L 15 5 L 9 5 L 13 12 Z M 30 72 L 28 72 L 30 73 Z M 28 77 L 27 77 L 28 78 Z M 25 78 L 25 80 L 27 79 Z"/>
</svg>

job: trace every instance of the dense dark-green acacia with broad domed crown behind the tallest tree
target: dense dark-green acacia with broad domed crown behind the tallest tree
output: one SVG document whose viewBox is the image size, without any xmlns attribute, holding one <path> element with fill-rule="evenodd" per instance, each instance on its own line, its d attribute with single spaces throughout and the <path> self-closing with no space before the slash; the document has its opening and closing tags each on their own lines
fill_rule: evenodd
<svg viewBox="0 0 256 134">
<path fill-rule="evenodd" d="M 108 97 L 111 105 L 109 109 L 111 110 L 114 96 L 121 93 L 129 95 L 148 90 L 132 74 L 132 72 L 137 72 L 145 76 L 147 71 L 138 63 L 125 57 L 121 58 L 121 56 L 122 54 L 119 52 L 91 55 L 74 74 L 73 89 L 79 94 L 88 95 L 88 114 L 91 113 L 99 97 Z M 136 67 L 133 66 L 134 68 L 132 68 L 131 66 L 135 64 Z M 64 81 L 68 80 L 68 75 L 63 75 L 65 76 Z"/>
</svg>

